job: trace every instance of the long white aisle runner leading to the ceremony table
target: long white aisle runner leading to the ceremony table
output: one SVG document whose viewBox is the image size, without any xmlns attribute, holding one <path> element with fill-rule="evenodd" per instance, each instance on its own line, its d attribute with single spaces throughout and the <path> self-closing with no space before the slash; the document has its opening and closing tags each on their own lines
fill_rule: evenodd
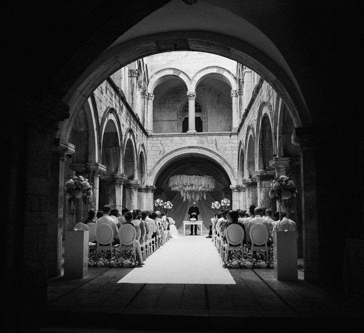
<svg viewBox="0 0 364 333">
<path fill-rule="evenodd" d="M 229 270 L 222 266 L 210 238 L 188 235 L 170 239 L 118 283 L 235 285 Z"/>
</svg>

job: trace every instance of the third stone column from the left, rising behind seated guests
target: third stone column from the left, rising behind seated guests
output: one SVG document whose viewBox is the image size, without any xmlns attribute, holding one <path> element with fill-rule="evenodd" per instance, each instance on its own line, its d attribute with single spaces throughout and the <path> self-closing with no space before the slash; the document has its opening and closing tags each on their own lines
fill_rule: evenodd
<svg viewBox="0 0 364 333">
<path fill-rule="evenodd" d="M 107 174 L 101 176 L 101 179 L 105 181 L 105 205 L 116 208 L 120 212 L 122 210 L 123 202 L 123 182 L 126 180 L 126 176 L 123 174 Z"/>
</svg>

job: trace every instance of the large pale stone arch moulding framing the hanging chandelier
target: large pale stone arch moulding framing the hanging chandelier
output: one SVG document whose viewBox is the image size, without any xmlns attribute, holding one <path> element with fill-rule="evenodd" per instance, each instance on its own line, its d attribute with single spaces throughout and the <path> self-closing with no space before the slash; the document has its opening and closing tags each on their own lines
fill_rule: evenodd
<svg viewBox="0 0 364 333">
<path fill-rule="evenodd" d="M 147 184 L 150 185 L 155 184 L 156 179 L 158 178 L 159 174 L 163 170 L 163 167 L 167 163 L 170 163 L 173 160 L 181 158 L 181 156 L 183 155 L 190 156 L 191 154 L 203 156 L 208 160 L 212 159 L 215 163 L 217 163 L 226 171 L 227 175 L 229 176 L 231 184 L 232 185 L 237 184 L 237 176 L 235 171 L 223 157 L 221 157 L 219 154 L 210 149 L 204 147 L 196 147 L 196 146 L 178 148 L 163 156 L 148 173 Z"/>
</svg>

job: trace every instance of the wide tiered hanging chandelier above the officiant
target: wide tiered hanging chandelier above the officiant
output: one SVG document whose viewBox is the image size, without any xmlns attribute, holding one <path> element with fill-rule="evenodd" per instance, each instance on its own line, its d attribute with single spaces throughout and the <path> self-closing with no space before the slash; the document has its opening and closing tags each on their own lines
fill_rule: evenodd
<svg viewBox="0 0 364 333">
<path fill-rule="evenodd" d="M 183 201 L 198 201 L 206 199 L 206 192 L 215 188 L 215 179 L 212 176 L 175 175 L 169 178 L 168 186 L 172 191 L 181 193 Z"/>
</svg>

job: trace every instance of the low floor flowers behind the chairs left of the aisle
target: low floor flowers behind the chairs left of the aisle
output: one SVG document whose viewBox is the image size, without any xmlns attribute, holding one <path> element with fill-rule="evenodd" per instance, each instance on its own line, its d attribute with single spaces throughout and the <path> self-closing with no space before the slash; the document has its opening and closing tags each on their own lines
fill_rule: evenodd
<svg viewBox="0 0 364 333">
<path fill-rule="evenodd" d="M 96 250 L 89 251 L 88 267 L 99 268 L 133 268 L 138 266 L 138 261 L 134 259 L 134 251 L 122 248 L 112 249 L 110 251 L 100 250 L 97 261 L 95 260 Z"/>
</svg>

